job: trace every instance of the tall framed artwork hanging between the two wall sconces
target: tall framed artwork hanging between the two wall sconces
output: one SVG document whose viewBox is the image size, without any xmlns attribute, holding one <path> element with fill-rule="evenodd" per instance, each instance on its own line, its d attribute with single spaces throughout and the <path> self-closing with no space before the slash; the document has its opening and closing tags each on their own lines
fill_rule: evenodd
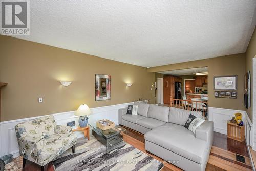
<svg viewBox="0 0 256 171">
<path fill-rule="evenodd" d="M 95 74 L 95 101 L 110 99 L 110 75 Z"/>
</svg>

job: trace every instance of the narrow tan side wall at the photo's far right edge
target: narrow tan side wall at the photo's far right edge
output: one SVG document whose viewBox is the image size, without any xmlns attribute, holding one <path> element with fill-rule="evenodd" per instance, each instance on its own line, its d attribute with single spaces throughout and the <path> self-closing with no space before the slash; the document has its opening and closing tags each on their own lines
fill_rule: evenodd
<svg viewBox="0 0 256 171">
<path fill-rule="evenodd" d="M 252 121 L 252 58 L 256 55 L 256 31 L 254 30 L 254 33 L 252 34 L 250 43 L 247 47 L 246 53 L 245 53 L 245 69 L 246 72 L 250 71 L 251 73 L 251 107 L 246 109 L 245 111 L 248 113 L 251 121 Z"/>
</svg>

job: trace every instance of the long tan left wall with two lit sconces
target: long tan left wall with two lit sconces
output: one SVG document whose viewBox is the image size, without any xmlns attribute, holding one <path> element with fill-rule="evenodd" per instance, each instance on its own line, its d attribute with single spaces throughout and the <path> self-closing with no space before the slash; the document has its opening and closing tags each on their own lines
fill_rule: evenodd
<svg viewBox="0 0 256 171">
<path fill-rule="evenodd" d="M 138 98 L 155 102 L 155 74 L 143 67 L 7 36 L 0 36 L 0 51 L 0 82 L 8 83 L 1 90 L 1 121 L 72 111 L 82 103 L 92 108 Z M 96 73 L 111 75 L 111 100 L 95 101 Z M 63 87 L 59 80 L 73 83 Z"/>
</svg>

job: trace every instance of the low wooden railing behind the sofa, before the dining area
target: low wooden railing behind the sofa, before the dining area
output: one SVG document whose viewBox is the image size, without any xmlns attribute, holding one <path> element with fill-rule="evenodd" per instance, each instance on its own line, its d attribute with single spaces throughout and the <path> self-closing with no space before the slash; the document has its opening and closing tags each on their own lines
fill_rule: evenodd
<svg viewBox="0 0 256 171">
<path fill-rule="evenodd" d="M 207 102 L 205 101 L 195 101 L 195 100 L 183 100 L 183 99 L 173 99 L 170 98 L 170 107 L 176 107 L 176 108 L 182 108 L 186 110 L 192 110 L 192 111 L 201 111 L 203 113 L 203 116 L 205 116 L 205 111 L 207 107 L 205 107 L 205 104 L 207 105 Z"/>
</svg>

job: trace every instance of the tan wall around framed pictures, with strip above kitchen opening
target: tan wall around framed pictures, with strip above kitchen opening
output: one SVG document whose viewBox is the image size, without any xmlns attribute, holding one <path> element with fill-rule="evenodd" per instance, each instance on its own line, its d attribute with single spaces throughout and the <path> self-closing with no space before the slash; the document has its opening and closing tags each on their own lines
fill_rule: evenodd
<svg viewBox="0 0 256 171">
<path fill-rule="evenodd" d="M 148 73 L 208 66 L 208 103 L 210 107 L 244 110 L 245 54 L 234 54 L 205 60 L 170 64 L 147 69 Z M 237 99 L 214 97 L 214 76 L 238 75 Z"/>
</svg>

